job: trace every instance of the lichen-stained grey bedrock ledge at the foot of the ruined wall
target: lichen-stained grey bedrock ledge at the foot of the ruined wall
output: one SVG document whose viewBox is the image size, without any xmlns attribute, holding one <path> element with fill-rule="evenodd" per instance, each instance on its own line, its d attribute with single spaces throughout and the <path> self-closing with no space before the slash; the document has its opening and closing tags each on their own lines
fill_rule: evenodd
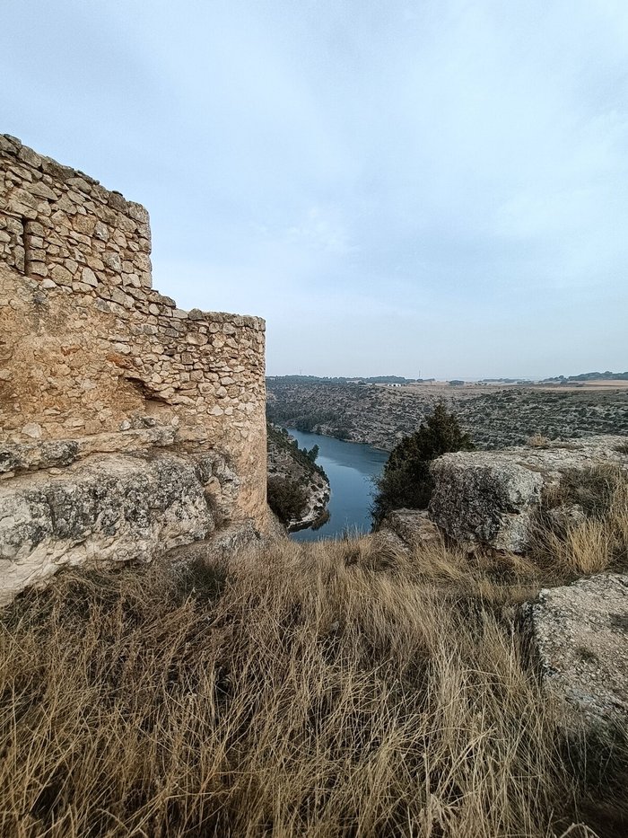
<svg viewBox="0 0 628 838">
<path fill-rule="evenodd" d="M 0 483 L 0 604 L 61 566 L 152 560 L 206 539 L 239 481 L 220 454 L 94 454 Z"/>
</svg>

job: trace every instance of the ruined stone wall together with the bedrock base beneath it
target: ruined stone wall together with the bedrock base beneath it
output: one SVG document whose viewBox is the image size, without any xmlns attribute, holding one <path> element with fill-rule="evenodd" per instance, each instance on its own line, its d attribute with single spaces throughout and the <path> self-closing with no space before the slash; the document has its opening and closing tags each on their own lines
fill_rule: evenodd
<svg viewBox="0 0 628 838">
<path fill-rule="evenodd" d="M 0 137 L 0 592 L 266 526 L 264 322 L 181 311 L 150 250 L 144 207 Z"/>
</svg>

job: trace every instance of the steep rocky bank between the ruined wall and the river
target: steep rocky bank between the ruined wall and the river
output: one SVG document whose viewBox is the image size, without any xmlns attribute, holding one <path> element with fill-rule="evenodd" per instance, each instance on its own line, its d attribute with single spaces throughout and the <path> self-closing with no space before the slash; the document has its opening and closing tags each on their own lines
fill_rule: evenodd
<svg viewBox="0 0 628 838">
<path fill-rule="evenodd" d="M 268 425 L 267 428 L 267 472 L 268 477 L 281 477 L 297 482 L 307 492 L 307 504 L 298 518 L 292 518 L 288 530 L 308 529 L 310 526 L 324 524 L 327 520 L 329 501 L 329 481 L 325 472 L 312 463 L 294 445 L 295 440 L 280 428 Z"/>
</svg>

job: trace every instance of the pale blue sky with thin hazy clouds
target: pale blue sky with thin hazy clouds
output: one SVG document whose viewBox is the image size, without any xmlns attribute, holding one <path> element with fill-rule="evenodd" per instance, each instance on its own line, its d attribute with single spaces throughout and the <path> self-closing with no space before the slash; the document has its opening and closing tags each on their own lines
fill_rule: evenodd
<svg viewBox="0 0 628 838">
<path fill-rule="evenodd" d="M 0 130 L 269 375 L 628 369 L 626 0 L 4 0 Z"/>
</svg>

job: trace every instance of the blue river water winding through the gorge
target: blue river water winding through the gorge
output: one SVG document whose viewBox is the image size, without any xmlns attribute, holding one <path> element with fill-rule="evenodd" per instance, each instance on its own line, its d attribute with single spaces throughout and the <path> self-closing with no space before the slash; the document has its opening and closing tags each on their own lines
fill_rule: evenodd
<svg viewBox="0 0 628 838">
<path fill-rule="evenodd" d="M 381 474 L 388 453 L 371 445 L 357 445 L 333 437 L 306 434 L 294 428 L 288 428 L 288 431 L 300 448 L 310 450 L 313 445 L 318 445 L 320 450 L 317 463 L 325 469 L 331 488 L 327 523 L 318 530 L 299 530 L 292 533 L 291 537 L 297 541 L 310 542 L 339 538 L 347 531 L 352 534 L 369 533 L 372 478 Z"/>
</svg>

